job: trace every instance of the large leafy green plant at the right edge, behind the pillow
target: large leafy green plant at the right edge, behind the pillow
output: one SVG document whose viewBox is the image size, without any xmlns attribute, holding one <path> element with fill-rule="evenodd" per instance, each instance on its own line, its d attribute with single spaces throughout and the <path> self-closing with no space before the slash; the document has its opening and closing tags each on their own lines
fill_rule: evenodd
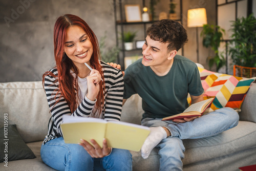
<svg viewBox="0 0 256 171">
<path fill-rule="evenodd" d="M 256 67 L 256 18 L 253 14 L 232 21 L 229 54 L 234 65 Z"/>
</svg>

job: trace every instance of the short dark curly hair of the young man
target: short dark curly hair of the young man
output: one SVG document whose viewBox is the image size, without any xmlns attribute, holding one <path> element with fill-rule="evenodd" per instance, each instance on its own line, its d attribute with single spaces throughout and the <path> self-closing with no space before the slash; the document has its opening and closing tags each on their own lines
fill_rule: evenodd
<svg viewBox="0 0 256 171">
<path fill-rule="evenodd" d="M 151 39 L 160 42 L 169 42 L 168 52 L 172 50 L 179 50 L 182 48 L 188 38 L 187 31 L 184 27 L 172 19 L 162 19 L 159 22 L 155 22 L 146 31 L 146 34 Z"/>
</svg>

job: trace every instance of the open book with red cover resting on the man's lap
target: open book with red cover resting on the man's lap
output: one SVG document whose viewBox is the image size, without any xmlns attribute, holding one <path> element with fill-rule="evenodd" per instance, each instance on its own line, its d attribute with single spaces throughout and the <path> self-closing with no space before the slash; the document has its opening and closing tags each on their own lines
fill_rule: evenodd
<svg viewBox="0 0 256 171">
<path fill-rule="evenodd" d="M 163 118 L 162 120 L 174 120 L 174 119 L 183 119 L 183 118 L 201 116 L 213 100 L 214 98 L 209 98 L 209 99 L 191 104 L 183 113 L 173 115 L 173 116 L 168 116 Z"/>
</svg>

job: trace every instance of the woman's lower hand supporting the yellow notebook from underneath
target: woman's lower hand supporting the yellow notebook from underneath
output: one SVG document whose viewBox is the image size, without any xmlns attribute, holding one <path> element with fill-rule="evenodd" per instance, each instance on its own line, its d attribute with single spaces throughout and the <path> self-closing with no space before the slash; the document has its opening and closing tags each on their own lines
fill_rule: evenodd
<svg viewBox="0 0 256 171">
<path fill-rule="evenodd" d="M 83 146 L 83 148 L 93 158 L 102 158 L 102 157 L 108 156 L 111 153 L 111 148 L 108 147 L 108 143 L 106 142 L 106 139 L 103 139 L 102 148 L 94 139 L 91 140 L 91 143 L 93 145 L 91 145 L 86 140 L 81 139 L 81 143 L 78 143 L 78 144 Z"/>
</svg>

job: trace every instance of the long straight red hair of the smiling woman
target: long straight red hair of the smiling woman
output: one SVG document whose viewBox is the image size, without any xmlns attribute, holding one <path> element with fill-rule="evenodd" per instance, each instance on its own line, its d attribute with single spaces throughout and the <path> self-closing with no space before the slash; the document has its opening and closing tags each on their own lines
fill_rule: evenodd
<svg viewBox="0 0 256 171">
<path fill-rule="evenodd" d="M 74 65 L 73 61 L 64 52 L 66 33 L 68 28 L 71 26 L 81 27 L 89 36 L 93 46 L 93 53 L 90 59 L 91 67 L 99 71 L 103 79 L 102 89 L 100 89 L 97 95 L 97 102 L 94 106 L 94 112 L 93 112 L 93 116 L 97 116 L 101 113 L 101 110 L 103 108 L 103 102 L 104 102 L 103 91 L 105 89 L 103 71 L 99 63 L 99 59 L 101 59 L 100 50 L 99 50 L 98 39 L 96 35 L 92 31 L 92 29 L 88 26 L 88 24 L 84 22 L 84 20 L 81 19 L 80 17 L 71 15 L 71 14 L 66 14 L 66 15 L 60 16 L 56 20 L 56 23 L 54 26 L 54 56 L 55 56 L 58 76 L 55 76 L 51 72 L 46 72 L 42 76 L 43 84 L 44 84 L 45 76 L 50 75 L 53 77 L 57 77 L 57 81 L 59 82 L 58 93 L 60 92 L 61 95 L 68 102 L 71 113 L 73 113 L 77 109 L 77 106 L 80 104 L 80 101 L 78 100 L 80 99 L 79 93 L 77 93 L 76 91 L 76 90 L 79 90 L 78 81 L 77 81 L 79 71 L 78 71 L 78 68 Z M 75 78 L 70 73 L 71 69 L 73 69 L 74 73 L 76 74 Z M 55 96 L 55 99 L 56 99 L 56 96 Z M 56 101 L 58 102 L 59 98 L 56 99 Z"/>
</svg>

